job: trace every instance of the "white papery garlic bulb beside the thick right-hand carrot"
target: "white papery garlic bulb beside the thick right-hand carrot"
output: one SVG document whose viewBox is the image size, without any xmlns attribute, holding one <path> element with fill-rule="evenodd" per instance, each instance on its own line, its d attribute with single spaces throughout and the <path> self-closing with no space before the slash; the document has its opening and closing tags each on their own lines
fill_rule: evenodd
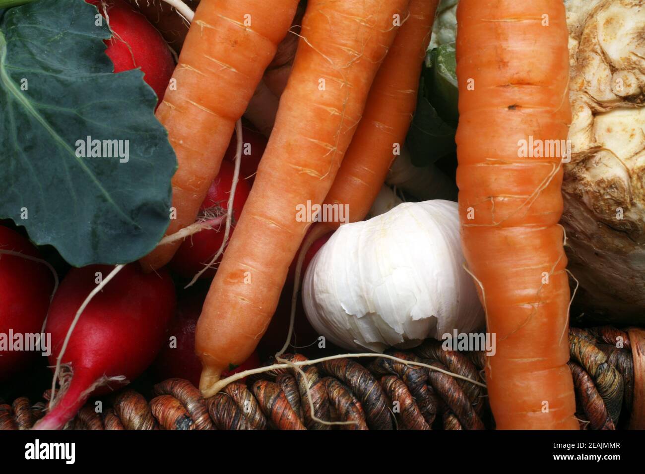
<svg viewBox="0 0 645 474">
<path fill-rule="evenodd" d="M 463 262 L 457 203 L 404 202 L 332 235 L 304 276 L 304 310 L 315 330 L 348 350 L 475 331 L 484 312 Z"/>
</svg>

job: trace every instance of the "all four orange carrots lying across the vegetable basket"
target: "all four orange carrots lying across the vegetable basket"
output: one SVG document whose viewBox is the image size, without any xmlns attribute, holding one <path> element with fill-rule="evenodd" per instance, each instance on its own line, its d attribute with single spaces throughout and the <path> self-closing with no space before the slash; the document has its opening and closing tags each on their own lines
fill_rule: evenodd
<svg viewBox="0 0 645 474">
<path fill-rule="evenodd" d="M 168 234 L 195 221 L 297 3 L 201 0 L 176 87 L 157 111 L 179 161 Z M 349 204 L 351 221 L 368 212 L 412 119 L 436 7 L 309 0 L 275 126 L 197 325 L 204 396 L 222 388 L 221 373 L 246 360 L 268 327 L 311 224 L 297 220 L 297 206 Z M 566 138 L 564 8 L 558 0 L 462 0 L 459 11 L 463 246 L 499 341 L 488 365 L 491 406 L 501 428 L 574 428 L 561 168 L 557 159 L 513 154 L 519 137 Z M 308 241 L 337 224 L 318 224 Z M 159 246 L 142 264 L 159 268 L 175 248 Z M 520 356 L 527 348 L 530 359 Z"/>
</svg>

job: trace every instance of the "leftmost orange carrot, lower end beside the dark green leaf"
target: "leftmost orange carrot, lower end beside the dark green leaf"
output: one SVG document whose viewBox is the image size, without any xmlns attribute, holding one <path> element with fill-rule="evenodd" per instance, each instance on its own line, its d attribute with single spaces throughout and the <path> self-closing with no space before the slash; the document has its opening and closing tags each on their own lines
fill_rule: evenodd
<svg viewBox="0 0 645 474">
<path fill-rule="evenodd" d="M 291 26 L 297 5 L 297 0 L 199 3 L 173 74 L 176 83 L 169 84 L 156 114 L 178 163 L 166 235 L 195 222 L 235 122 Z M 157 246 L 141 264 L 146 270 L 163 266 L 179 244 Z"/>
</svg>

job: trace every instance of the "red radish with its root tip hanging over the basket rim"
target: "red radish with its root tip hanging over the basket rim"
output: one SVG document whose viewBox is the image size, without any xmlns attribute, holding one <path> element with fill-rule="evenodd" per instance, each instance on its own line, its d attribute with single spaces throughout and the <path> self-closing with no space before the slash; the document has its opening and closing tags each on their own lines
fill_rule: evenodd
<svg viewBox="0 0 645 474">
<path fill-rule="evenodd" d="M 45 328 L 52 334 L 52 366 L 75 313 L 97 286 L 97 272 L 104 278 L 112 268 L 74 268 L 61 283 Z M 72 370 L 71 380 L 35 428 L 62 428 L 90 396 L 107 393 L 138 377 L 161 349 L 174 311 L 175 288 L 166 270 L 144 273 L 138 264 L 126 265 L 81 314 L 62 360 Z M 124 377 L 124 381 L 114 377 Z"/>
</svg>

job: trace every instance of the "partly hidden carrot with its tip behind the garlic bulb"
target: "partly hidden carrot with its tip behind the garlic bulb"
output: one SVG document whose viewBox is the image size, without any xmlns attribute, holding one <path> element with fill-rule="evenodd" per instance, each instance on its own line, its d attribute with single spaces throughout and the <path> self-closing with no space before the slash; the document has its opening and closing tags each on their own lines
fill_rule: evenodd
<svg viewBox="0 0 645 474">
<path fill-rule="evenodd" d="M 410 14 L 374 79 L 361 123 L 325 198 L 325 204 L 348 204 L 350 222 L 361 221 L 370 211 L 403 146 L 438 2 L 410 1 Z M 321 222 L 328 230 L 340 224 Z"/>
</svg>

